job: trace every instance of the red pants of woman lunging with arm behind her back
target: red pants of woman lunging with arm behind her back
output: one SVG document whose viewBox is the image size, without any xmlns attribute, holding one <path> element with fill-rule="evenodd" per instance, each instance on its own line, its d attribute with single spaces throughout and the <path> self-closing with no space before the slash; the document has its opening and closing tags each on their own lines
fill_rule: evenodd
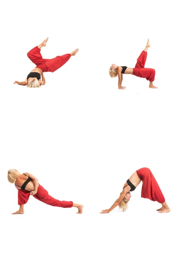
<svg viewBox="0 0 180 256">
<path fill-rule="evenodd" d="M 26 204 L 30 196 L 30 192 L 27 190 L 21 190 L 18 189 L 18 204 Z M 64 208 L 70 208 L 73 206 L 72 201 L 59 201 L 55 198 L 53 198 L 51 195 L 48 194 L 48 191 L 45 190 L 41 185 L 39 185 L 37 189 L 37 194 L 34 195 L 34 198 L 38 199 L 39 201 L 42 201 L 45 204 L 49 204 L 52 206 L 57 207 L 64 207 Z"/>
</svg>

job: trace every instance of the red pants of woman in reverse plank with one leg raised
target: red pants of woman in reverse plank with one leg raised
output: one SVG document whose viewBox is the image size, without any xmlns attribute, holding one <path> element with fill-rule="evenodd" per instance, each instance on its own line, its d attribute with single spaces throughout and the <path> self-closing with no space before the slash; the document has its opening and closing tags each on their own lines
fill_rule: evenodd
<svg viewBox="0 0 180 256">
<path fill-rule="evenodd" d="M 147 52 L 142 51 L 139 58 L 137 59 L 137 63 L 135 68 L 133 68 L 134 76 L 143 77 L 149 80 L 150 82 L 155 80 L 155 70 L 152 68 L 145 68 L 144 65 L 146 63 Z"/>
</svg>

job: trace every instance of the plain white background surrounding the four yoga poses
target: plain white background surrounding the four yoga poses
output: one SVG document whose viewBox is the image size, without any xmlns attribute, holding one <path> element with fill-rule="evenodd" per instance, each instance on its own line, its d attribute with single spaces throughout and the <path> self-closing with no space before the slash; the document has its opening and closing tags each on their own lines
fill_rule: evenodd
<svg viewBox="0 0 180 256">
<path fill-rule="evenodd" d="M 169 255 L 179 228 L 179 41 L 177 1 L 11 1 L 1 9 L 0 172 L 3 255 Z M 79 52 L 46 84 L 13 84 L 35 67 L 27 52 L 46 37 L 44 58 Z M 134 67 L 146 46 L 154 85 L 111 64 Z M 151 169 L 171 208 L 141 198 L 107 215 L 135 170 Z M 31 197 L 24 215 L 7 171 L 30 172 L 59 200 L 84 204 L 50 207 Z"/>
</svg>

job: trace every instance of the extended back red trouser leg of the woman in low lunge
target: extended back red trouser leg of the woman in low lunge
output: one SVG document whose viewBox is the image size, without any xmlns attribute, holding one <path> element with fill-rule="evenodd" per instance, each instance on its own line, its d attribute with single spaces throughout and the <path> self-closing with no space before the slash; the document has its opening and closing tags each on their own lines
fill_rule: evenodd
<svg viewBox="0 0 180 256">
<path fill-rule="evenodd" d="M 45 190 L 41 185 L 39 185 L 37 194 L 34 195 L 34 198 L 38 199 L 39 201 L 42 201 L 45 204 L 49 204 L 51 206 L 63 207 L 63 208 L 70 208 L 73 206 L 72 201 L 59 201 L 53 198 L 51 195 L 48 194 L 48 191 Z"/>
</svg>

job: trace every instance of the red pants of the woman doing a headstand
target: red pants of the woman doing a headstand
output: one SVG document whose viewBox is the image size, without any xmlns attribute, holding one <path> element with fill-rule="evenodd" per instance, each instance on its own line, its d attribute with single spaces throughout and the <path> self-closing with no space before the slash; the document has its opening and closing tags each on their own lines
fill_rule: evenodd
<svg viewBox="0 0 180 256">
<path fill-rule="evenodd" d="M 31 51 L 28 52 L 28 58 L 37 65 L 38 68 L 42 70 L 42 72 L 54 72 L 59 67 L 62 67 L 69 59 L 70 53 L 57 56 L 52 59 L 43 59 L 40 53 L 41 49 L 38 47 L 34 47 Z"/>
</svg>

